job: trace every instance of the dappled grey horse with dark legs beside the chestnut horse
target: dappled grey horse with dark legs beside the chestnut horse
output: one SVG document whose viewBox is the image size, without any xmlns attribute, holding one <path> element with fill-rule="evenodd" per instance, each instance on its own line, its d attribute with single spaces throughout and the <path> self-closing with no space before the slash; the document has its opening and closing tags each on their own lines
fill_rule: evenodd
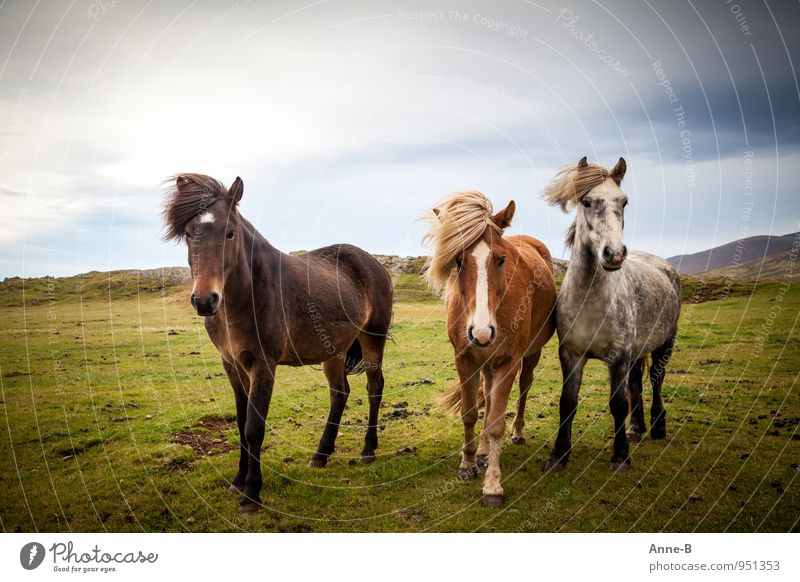
<svg viewBox="0 0 800 582">
<path fill-rule="evenodd" d="M 577 208 L 567 232 L 572 255 L 557 306 L 563 375 L 561 424 L 545 465 L 547 471 L 559 471 L 567 464 L 578 391 L 589 358 L 604 361 L 611 376 L 612 470 L 629 467 L 628 441 L 638 442 L 646 431 L 642 378 L 650 354 L 650 436 L 662 439 L 667 434 L 661 387 L 678 331 L 680 279 L 665 260 L 642 252 L 628 253 L 622 238 L 628 198 L 620 189 L 625 170 L 622 158 L 608 170 L 587 163 L 584 157 L 565 168 L 544 192 L 550 204 L 560 205 L 565 212 Z M 629 412 L 631 425 L 626 436 Z"/>
</svg>

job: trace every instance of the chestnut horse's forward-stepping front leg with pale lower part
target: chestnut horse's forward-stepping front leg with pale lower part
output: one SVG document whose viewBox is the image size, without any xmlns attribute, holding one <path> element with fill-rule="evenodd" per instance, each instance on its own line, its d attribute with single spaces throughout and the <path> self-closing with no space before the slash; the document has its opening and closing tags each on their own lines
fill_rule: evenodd
<svg viewBox="0 0 800 582">
<path fill-rule="evenodd" d="M 506 408 L 508 396 L 519 372 L 519 360 L 512 360 L 493 371 L 491 386 L 484 386 L 492 401 L 492 407 L 483 423 L 483 432 L 488 434 L 489 465 L 483 479 L 483 505 L 498 507 L 503 502 L 503 487 L 500 485 L 500 452 L 506 434 Z"/>
</svg>

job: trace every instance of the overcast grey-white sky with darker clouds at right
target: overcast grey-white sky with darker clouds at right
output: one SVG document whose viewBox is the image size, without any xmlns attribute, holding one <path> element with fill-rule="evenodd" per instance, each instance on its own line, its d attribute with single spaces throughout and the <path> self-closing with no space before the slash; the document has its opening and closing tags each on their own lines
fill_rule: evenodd
<svg viewBox="0 0 800 582">
<path fill-rule="evenodd" d="M 626 242 L 800 230 L 796 2 L 0 5 L 0 277 L 186 264 L 161 181 L 245 184 L 273 245 L 417 255 L 473 188 L 565 256 L 539 195 L 628 161 Z M 683 125 L 681 125 L 683 124 Z"/>
</svg>

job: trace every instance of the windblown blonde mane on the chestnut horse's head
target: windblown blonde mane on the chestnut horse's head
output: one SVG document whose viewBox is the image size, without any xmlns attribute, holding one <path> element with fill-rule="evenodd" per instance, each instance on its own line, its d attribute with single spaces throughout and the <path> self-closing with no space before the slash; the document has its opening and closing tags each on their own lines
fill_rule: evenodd
<svg viewBox="0 0 800 582">
<path fill-rule="evenodd" d="M 464 190 L 450 194 L 422 217 L 429 226 L 422 241 L 433 245 L 423 275 L 433 291 L 446 291 L 456 257 L 474 244 L 487 226 L 502 233 L 502 229 L 492 222 L 492 214 L 492 203 L 485 194 Z"/>
</svg>

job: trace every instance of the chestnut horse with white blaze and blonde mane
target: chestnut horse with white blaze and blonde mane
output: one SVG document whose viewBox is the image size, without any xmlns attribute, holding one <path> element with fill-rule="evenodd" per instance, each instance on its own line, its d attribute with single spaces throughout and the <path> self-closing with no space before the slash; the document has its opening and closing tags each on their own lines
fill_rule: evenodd
<svg viewBox="0 0 800 582">
<path fill-rule="evenodd" d="M 535 238 L 503 236 L 515 209 L 511 201 L 493 215 L 486 196 L 466 191 L 445 198 L 426 218 L 425 239 L 433 243 L 433 252 L 425 277 L 433 290 L 444 292 L 459 377 L 459 385 L 443 398 L 453 407 L 460 404 L 464 423 L 458 474 L 475 479 L 478 466 L 488 464 L 482 498 L 487 507 L 503 500 L 500 451 L 511 387 L 519 377 L 512 442 L 521 443 L 533 370 L 555 332 L 552 257 Z M 486 412 L 477 446 L 481 380 Z"/>
</svg>

